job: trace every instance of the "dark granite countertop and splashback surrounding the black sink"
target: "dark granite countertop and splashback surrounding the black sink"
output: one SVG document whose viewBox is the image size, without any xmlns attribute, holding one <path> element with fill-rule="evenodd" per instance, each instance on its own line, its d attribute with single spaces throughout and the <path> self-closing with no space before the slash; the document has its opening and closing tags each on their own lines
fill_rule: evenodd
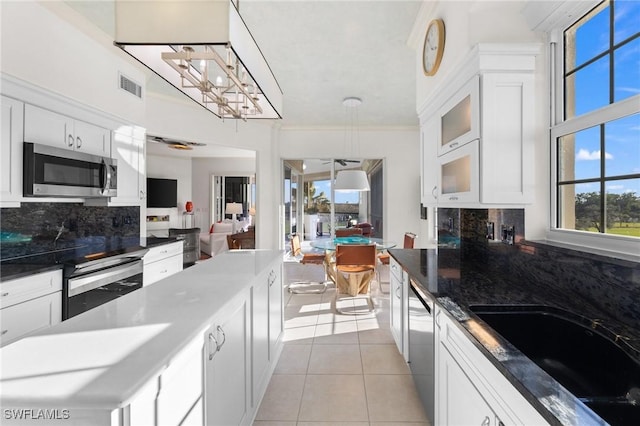
<svg viewBox="0 0 640 426">
<path fill-rule="evenodd" d="M 526 271 L 527 266 L 518 266 L 511 258 L 519 255 L 516 251 L 535 251 L 535 245 L 523 245 L 519 248 L 498 246 L 495 250 L 511 250 L 514 254 L 502 256 L 502 253 L 493 253 L 490 257 L 477 258 L 455 249 L 391 249 L 389 253 L 422 290 L 433 295 L 436 303 L 457 320 L 460 329 L 470 337 L 471 342 L 551 424 L 606 424 L 560 383 L 488 327 L 469 307 L 543 305 L 568 311 L 568 315 L 573 315 L 578 322 L 582 320 L 587 324 L 594 324 L 592 320 L 597 319 L 597 326 L 593 328 L 608 337 L 621 337 L 619 340 L 626 352 L 640 362 L 640 329 L 634 326 L 637 324 L 634 322 L 635 317 L 621 319 L 620 309 L 599 309 L 589 295 L 577 295 L 566 287 L 550 285 L 549 283 L 565 278 L 549 275 L 548 270 L 541 272 L 536 269 L 537 258 L 524 260 L 524 263 L 530 262 L 531 275 L 536 276 L 535 279 L 524 277 L 526 272 L 522 269 Z M 558 254 L 554 256 L 558 262 L 577 262 L 578 267 L 585 268 L 586 263 L 583 265 L 580 260 Z M 585 262 L 590 262 L 588 257 L 586 259 Z M 545 259 L 545 262 L 545 268 L 549 269 L 549 259 Z M 622 267 L 631 268 L 633 284 L 637 285 L 635 280 L 638 266 L 624 264 Z M 519 272 L 518 268 L 521 269 Z M 542 276 L 544 274 L 549 276 Z M 478 329 L 478 324 L 481 330 Z M 483 335 L 487 334 L 500 343 L 499 347 L 483 343 L 486 342 Z"/>
</svg>

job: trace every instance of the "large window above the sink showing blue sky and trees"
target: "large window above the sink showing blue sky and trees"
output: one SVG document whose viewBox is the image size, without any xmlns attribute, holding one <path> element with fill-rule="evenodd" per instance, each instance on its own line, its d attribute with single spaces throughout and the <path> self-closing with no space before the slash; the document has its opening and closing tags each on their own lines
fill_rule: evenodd
<svg viewBox="0 0 640 426">
<path fill-rule="evenodd" d="M 632 237 L 637 244 L 640 2 L 600 3 L 564 31 L 563 41 L 551 131 L 552 228 Z"/>
</svg>

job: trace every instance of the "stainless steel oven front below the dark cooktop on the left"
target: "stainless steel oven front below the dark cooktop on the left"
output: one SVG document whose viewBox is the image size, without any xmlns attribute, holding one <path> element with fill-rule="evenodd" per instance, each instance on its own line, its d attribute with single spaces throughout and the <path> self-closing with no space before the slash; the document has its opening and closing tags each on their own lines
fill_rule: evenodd
<svg viewBox="0 0 640 426">
<path fill-rule="evenodd" d="M 141 288 L 145 252 L 69 266 L 63 283 L 62 319 Z"/>
</svg>

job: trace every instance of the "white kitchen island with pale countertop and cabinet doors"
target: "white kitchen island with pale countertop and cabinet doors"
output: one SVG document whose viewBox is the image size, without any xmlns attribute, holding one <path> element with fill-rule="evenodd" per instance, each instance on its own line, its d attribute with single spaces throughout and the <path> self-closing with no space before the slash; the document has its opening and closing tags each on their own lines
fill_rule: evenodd
<svg viewBox="0 0 640 426">
<path fill-rule="evenodd" d="M 3 421 L 249 424 L 282 349 L 281 265 L 225 253 L 2 348 Z"/>
</svg>

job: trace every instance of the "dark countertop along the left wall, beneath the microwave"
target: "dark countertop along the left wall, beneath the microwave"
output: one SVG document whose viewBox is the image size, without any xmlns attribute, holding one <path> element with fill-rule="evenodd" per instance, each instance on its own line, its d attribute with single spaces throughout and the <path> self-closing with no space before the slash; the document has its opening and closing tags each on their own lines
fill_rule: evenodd
<svg viewBox="0 0 640 426">
<path fill-rule="evenodd" d="M 64 241 L 55 248 L 31 244 L 16 247 L 11 252 L 5 247 L 0 261 L 0 282 L 62 269 L 65 264 L 77 262 L 78 258 L 91 253 L 104 252 L 105 256 L 108 256 L 110 253 L 133 252 L 175 241 L 175 237 L 91 237 Z"/>
</svg>

